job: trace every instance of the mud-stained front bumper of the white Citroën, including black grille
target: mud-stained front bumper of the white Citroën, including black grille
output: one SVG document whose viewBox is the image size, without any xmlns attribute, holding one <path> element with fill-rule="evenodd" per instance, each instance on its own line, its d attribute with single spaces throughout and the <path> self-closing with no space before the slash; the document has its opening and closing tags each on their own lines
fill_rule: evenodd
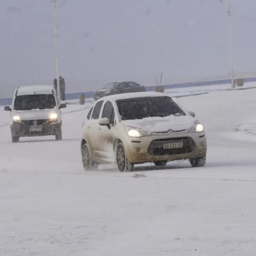
<svg viewBox="0 0 256 256">
<path fill-rule="evenodd" d="M 163 148 L 164 143 L 180 141 L 183 142 L 182 148 Z M 202 158 L 207 152 L 205 132 L 129 137 L 124 142 L 124 147 L 128 161 L 134 164 Z"/>
</svg>

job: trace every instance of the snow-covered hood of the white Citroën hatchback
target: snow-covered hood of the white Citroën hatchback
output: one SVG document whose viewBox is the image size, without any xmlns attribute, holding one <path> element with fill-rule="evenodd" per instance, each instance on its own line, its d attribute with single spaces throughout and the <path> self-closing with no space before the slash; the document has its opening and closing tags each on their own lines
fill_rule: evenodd
<svg viewBox="0 0 256 256">
<path fill-rule="evenodd" d="M 166 116 L 166 117 L 147 117 L 144 119 L 121 121 L 124 126 L 136 127 L 153 133 L 163 133 L 172 130 L 178 132 L 191 128 L 196 119 L 190 115 L 185 116 Z"/>
</svg>

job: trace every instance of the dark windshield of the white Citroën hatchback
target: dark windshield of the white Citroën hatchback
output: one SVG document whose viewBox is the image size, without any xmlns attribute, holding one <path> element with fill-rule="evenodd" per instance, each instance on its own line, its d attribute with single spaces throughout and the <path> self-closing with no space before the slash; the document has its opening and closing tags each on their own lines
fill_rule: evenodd
<svg viewBox="0 0 256 256">
<path fill-rule="evenodd" d="M 117 100 L 116 103 L 122 120 L 186 115 L 168 96 L 130 98 Z"/>
</svg>

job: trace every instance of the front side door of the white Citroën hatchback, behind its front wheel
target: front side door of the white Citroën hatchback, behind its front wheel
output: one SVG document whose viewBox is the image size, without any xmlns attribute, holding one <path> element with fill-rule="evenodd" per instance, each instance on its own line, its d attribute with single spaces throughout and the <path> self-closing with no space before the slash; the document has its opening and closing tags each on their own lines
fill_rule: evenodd
<svg viewBox="0 0 256 256">
<path fill-rule="evenodd" d="M 113 104 L 106 100 L 102 107 L 101 118 L 107 117 L 110 120 L 110 126 L 100 126 L 98 127 L 98 135 L 97 139 L 99 141 L 99 152 L 101 159 L 111 161 L 114 158 L 114 150 L 113 150 L 113 141 L 116 133 L 115 130 L 115 110 Z"/>
</svg>

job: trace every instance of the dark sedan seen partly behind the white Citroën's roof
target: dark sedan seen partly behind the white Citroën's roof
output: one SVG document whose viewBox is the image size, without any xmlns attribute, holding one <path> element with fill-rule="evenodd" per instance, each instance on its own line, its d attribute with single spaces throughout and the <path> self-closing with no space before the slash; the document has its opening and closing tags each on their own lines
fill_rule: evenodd
<svg viewBox="0 0 256 256">
<path fill-rule="evenodd" d="M 94 100 L 98 100 L 101 97 L 121 94 L 128 92 L 142 92 L 145 91 L 145 86 L 137 84 L 132 81 L 116 81 L 106 84 L 102 89 L 94 92 Z"/>
</svg>

